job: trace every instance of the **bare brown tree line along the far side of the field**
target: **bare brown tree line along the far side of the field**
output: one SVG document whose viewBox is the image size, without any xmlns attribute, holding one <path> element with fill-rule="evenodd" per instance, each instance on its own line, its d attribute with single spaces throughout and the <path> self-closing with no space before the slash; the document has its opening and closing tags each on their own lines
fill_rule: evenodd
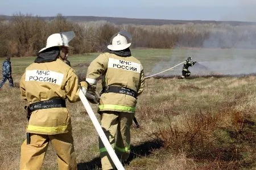
<svg viewBox="0 0 256 170">
<path fill-rule="evenodd" d="M 74 31 L 73 54 L 102 52 L 120 30 L 131 33 L 131 48 L 255 48 L 256 25 L 184 23 L 168 25 L 117 25 L 106 21 L 72 22 L 61 14 L 52 20 L 15 14 L 0 20 L 0 57 L 35 56 L 49 35 Z"/>
</svg>

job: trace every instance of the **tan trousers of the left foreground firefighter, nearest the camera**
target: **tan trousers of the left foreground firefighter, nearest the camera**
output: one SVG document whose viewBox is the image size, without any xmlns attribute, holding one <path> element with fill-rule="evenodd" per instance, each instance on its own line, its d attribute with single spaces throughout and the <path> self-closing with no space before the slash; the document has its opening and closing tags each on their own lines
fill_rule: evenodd
<svg viewBox="0 0 256 170">
<path fill-rule="evenodd" d="M 77 169 L 72 132 L 55 135 L 31 134 L 30 145 L 24 141 L 21 147 L 20 170 L 37 170 L 42 167 L 47 147 L 51 142 L 59 169 Z"/>
</svg>

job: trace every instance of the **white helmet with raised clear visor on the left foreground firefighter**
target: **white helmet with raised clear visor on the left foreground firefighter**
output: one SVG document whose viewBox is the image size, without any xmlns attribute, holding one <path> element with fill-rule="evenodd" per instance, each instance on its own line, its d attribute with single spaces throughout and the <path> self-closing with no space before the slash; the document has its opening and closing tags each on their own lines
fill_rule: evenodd
<svg viewBox="0 0 256 170">
<path fill-rule="evenodd" d="M 69 46 L 68 42 L 71 41 L 73 37 L 75 37 L 75 33 L 73 31 L 53 33 L 48 37 L 46 47 L 42 48 L 39 53 L 43 50 L 51 48 L 52 46 L 66 46 L 67 48 L 71 49 L 73 47 Z"/>
</svg>

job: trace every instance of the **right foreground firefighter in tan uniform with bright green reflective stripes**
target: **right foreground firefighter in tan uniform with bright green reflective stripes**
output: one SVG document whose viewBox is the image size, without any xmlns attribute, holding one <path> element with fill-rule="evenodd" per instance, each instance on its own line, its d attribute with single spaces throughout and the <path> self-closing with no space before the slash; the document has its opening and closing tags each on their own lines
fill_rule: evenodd
<svg viewBox="0 0 256 170">
<path fill-rule="evenodd" d="M 88 88 L 88 93 L 96 99 L 97 79 L 102 78 L 103 89 L 98 105 L 101 127 L 121 160 L 126 160 L 130 154 L 130 126 L 137 97 L 144 88 L 143 67 L 138 59 L 131 56 L 131 43 L 127 43 L 126 39 L 127 36 L 131 40 L 129 35 L 127 32 L 117 33 L 112 45 L 108 45 L 109 52 L 94 59 L 86 74 L 86 81 L 92 86 Z M 99 147 L 102 169 L 115 168 L 100 139 Z"/>
</svg>

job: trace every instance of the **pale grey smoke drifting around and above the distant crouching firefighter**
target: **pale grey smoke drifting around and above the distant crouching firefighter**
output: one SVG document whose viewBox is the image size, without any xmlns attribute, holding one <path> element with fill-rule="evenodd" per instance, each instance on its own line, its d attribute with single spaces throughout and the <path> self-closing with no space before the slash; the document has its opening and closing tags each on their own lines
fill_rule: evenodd
<svg viewBox="0 0 256 170">
<path fill-rule="evenodd" d="M 240 0 L 234 2 L 234 10 L 226 12 L 220 20 L 237 20 L 256 22 L 256 1 Z M 236 2 L 236 3 L 237 3 Z M 232 5 L 230 3 L 230 5 Z M 236 6 L 236 7 L 235 7 Z M 189 67 L 193 75 L 243 75 L 256 73 L 256 24 L 242 23 L 238 25 L 212 24 L 208 37 L 203 41 L 201 49 L 176 48 L 168 56 L 168 60 L 156 63 L 150 74 L 159 73 L 192 57 L 197 63 Z M 183 65 L 166 71 L 158 76 L 181 76 Z"/>
</svg>

